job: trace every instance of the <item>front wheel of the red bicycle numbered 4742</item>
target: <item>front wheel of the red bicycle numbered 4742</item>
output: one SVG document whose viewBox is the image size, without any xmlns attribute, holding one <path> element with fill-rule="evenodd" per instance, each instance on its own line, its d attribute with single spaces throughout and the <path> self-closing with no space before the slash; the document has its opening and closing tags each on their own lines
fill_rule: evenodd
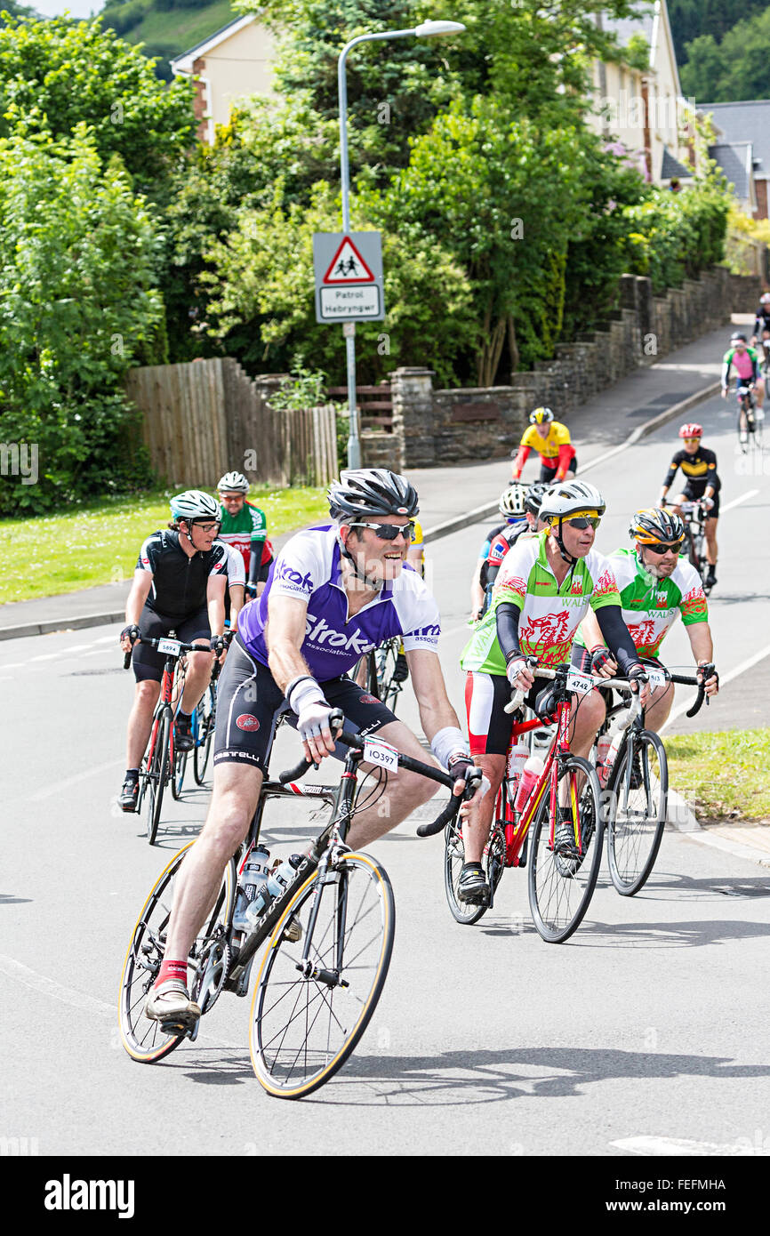
<svg viewBox="0 0 770 1236">
<path fill-rule="evenodd" d="M 570 755 L 559 771 L 559 787 L 565 784 L 573 811 L 577 803 L 580 850 L 576 844 L 572 857 L 551 845 L 548 791 L 530 826 L 529 906 L 538 932 L 549 944 L 564 943 L 582 922 L 602 861 L 601 787 L 596 770 L 588 760 Z"/>
</svg>

